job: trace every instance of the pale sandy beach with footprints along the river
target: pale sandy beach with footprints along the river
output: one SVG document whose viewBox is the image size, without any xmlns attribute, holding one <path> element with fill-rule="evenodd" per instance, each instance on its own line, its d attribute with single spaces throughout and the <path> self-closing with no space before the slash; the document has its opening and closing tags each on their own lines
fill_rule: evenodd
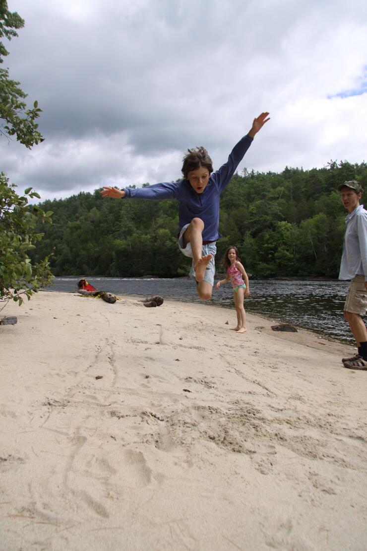
<svg viewBox="0 0 367 551">
<path fill-rule="evenodd" d="M 168 300 L 41 292 L 11 315 L 0 549 L 367 549 L 354 349 Z"/>
</svg>

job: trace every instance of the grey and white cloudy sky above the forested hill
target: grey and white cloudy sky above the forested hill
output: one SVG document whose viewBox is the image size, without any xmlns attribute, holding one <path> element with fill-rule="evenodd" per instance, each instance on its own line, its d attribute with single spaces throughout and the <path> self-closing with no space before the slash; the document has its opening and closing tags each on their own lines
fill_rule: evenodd
<svg viewBox="0 0 367 551">
<path fill-rule="evenodd" d="M 220 166 L 270 111 L 239 172 L 367 161 L 366 0 L 8 0 L 10 77 L 45 142 L 0 139 L 42 199 L 171 181 L 185 149 Z"/>
</svg>

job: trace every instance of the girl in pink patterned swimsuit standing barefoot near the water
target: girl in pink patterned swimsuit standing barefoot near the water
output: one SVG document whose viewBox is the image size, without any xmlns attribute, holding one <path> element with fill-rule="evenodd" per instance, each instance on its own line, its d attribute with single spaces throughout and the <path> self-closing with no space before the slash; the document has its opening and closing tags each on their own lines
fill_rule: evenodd
<svg viewBox="0 0 367 551">
<path fill-rule="evenodd" d="M 218 281 L 215 288 L 219 289 L 220 285 L 230 281 L 233 287 L 233 298 L 235 312 L 237 314 L 237 326 L 231 327 L 237 333 L 245 333 L 246 329 L 246 312 L 243 306 L 245 296 L 249 296 L 249 278 L 245 268 L 240 263 L 237 247 L 228 247 L 226 254 L 222 260 L 223 268 L 226 268 L 226 277 Z"/>
</svg>

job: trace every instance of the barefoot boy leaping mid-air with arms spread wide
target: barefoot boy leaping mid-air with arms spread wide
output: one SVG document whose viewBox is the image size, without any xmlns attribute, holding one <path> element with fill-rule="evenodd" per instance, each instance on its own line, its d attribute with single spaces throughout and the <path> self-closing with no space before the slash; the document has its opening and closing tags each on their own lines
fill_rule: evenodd
<svg viewBox="0 0 367 551">
<path fill-rule="evenodd" d="M 220 195 L 250 147 L 255 134 L 269 121 L 269 113 L 254 119 L 249 133 L 234 146 L 227 163 L 213 172 L 212 160 L 204 147 L 188 149 L 183 158 L 179 182 L 156 183 L 142 188 L 103 186 L 102 197 L 137 199 L 178 199 L 178 246 L 185 256 L 193 258 L 190 277 L 196 281 L 201 300 L 211 298 L 219 234 Z"/>
</svg>

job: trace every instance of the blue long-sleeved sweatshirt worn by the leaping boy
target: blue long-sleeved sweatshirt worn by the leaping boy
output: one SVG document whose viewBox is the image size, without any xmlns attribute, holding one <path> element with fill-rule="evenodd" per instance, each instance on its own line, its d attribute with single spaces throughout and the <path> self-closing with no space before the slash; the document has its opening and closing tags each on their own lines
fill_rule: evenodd
<svg viewBox="0 0 367 551">
<path fill-rule="evenodd" d="M 231 180 L 235 169 L 243 159 L 253 138 L 244 136 L 234 146 L 227 163 L 216 172 L 212 172 L 209 182 L 202 193 L 196 193 L 186 179 L 179 182 L 155 183 L 152 186 L 132 189 L 125 188 L 125 197 L 136 199 L 178 199 L 179 230 L 190 224 L 193 218 L 201 218 L 204 222 L 203 241 L 216 241 L 220 234 L 219 206 L 220 195 Z"/>
</svg>

